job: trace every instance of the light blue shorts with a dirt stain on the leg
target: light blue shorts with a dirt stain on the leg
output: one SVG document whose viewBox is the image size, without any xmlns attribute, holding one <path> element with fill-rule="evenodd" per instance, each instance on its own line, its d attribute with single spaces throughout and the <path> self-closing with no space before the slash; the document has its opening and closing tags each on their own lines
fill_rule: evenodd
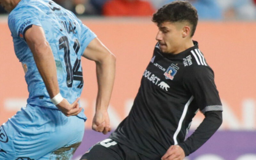
<svg viewBox="0 0 256 160">
<path fill-rule="evenodd" d="M 0 127 L 1 160 L 70 160 L 84 135 L 84 119 L 27 105 Z"/>
</svg>

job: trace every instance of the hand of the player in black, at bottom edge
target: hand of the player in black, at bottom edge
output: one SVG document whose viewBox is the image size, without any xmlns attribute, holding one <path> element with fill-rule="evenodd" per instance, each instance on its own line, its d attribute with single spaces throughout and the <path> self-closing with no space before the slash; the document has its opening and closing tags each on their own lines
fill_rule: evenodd
<svg viewBox="0 0 256 160">
<path fill-rule="evenodd" d="M 179 145 L 172 145 L 167 152 L 162 156 L 161 160 L 182 160 L 185 158 L 185 153 Z"/>
</svg>

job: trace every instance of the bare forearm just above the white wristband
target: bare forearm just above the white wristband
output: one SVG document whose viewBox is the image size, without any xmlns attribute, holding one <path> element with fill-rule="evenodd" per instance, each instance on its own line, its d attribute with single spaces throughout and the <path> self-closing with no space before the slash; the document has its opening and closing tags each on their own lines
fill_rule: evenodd
<svg viewBox="0 0 256 160">
<path fill-rule="evenodd" d="M 57 71 L 50 45 L 46 41 L 42 44 L 34 44 L 30 47 L 40 75 L 44 80 L 50 98 L 60 92 Z"/>
</svg>

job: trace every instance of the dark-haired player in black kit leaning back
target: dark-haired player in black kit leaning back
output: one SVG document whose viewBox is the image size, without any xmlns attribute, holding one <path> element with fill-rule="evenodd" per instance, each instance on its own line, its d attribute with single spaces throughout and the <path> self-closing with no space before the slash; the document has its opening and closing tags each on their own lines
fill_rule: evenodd
<svg viewBox="0 0 256 160">
<path fill-rule="evenodd" d="M 132 109 L 81 160 L 182 160 L 217 131 L 222 104 L 213 71 L 192 40 L 197 20 L 187 1 L 166 4 L 153 15 L 158 42 Z M 198 110 L 205 118 L 185 140 Z"/>
</svg>

